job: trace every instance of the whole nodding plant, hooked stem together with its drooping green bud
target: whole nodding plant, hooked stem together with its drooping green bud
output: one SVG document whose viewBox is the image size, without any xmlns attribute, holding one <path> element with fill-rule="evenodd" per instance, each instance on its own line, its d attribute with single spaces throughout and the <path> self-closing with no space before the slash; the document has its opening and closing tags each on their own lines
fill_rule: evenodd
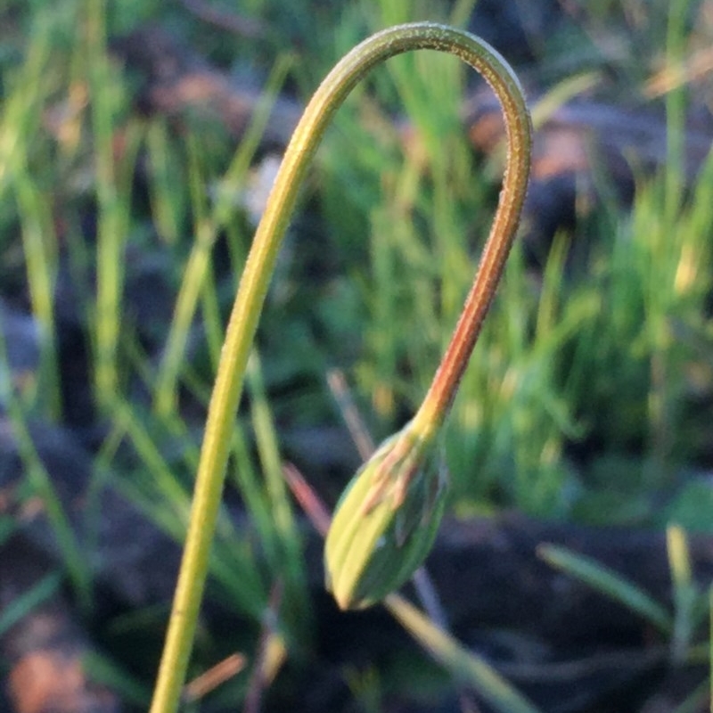
<svg viewBox="0 0 713 713">
<path fill-rule="evenodd" d="M 332 114 L 359 80 L 381 61 L 420 49 L 455 54 L 493 87 L 502 104 L 508 143 L 503 190 L 478 273 L 422 406 L 404 429 L 377 449 L 340 500 L 325 546 L 327 585 L 342 607 L 376 602 L 411 576 L 435 537 L 445 494 L 436 438 L 517 230 L 528 184 L 531 131 L 520 84 L 495 50 L 462 30 L 421 22 L 385 29 L 342 58 L 307 104 L 285 151 L 225 334 L 152 713 L 175 711 L 180 701 L 208 573 L 235 412 L 299 184 Z"/>
</svg>

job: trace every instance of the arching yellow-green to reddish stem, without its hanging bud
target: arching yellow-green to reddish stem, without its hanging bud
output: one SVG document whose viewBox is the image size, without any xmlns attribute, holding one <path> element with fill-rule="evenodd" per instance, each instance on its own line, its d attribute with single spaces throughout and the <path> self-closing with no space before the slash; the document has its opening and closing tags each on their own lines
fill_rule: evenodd
<svg viewBox="0 0 713 713">
<path fill-rule="evenodd" d="M 225 334 L 151 713 L 174 711 L 180 700 L 208 573 L 210 544 L 243 376 L 299 184 L 332 114 L 351 89 L 381 61 L 418 49 L 455 54 L 479 71 L 502 104 L 508 143 L 503 190 L 478 273 L 438 372 L 410 424 L 409 435 L 430 437 L 435 433 L 455 397 L 520 220 L 529 176 L 531 130 L 520 83 L 500 54 L 469 33 L 422 22 L 383 30 L 348 53 L 316 90 L 285 151 L 244 267 Z"/>
</svg>

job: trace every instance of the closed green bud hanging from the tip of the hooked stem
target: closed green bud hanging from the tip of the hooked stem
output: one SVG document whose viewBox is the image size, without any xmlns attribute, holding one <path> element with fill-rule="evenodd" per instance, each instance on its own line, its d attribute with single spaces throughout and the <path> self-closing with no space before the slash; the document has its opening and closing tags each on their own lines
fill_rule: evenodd
<svg viewBox="0 0 713 713">
<path fill-rule="evenodd" d="M 429 467 L 434 438 L 411 425 L 384 441 L 337 504 L 324 545 L 327 588 L 341 609 L 362 609 L 410 578 L 438 531 L 443 471 Z"/>
</svg>

